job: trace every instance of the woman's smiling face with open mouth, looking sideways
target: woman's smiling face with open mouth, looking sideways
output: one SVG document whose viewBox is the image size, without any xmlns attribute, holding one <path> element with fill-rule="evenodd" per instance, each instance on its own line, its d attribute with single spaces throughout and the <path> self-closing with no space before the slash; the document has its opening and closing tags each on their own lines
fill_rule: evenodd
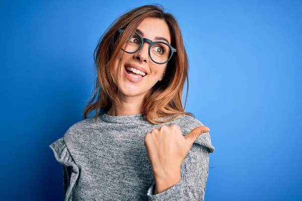
<svg viewBox="0 0 302 201">
<path fill-rule="evenodd" d="M 170 30 L 167 23 L 164 20 L 156 18 L 146 18 L 144 19 L 137 30 L 141 32 L 143 38 L 150 39 L 152 41 L 163 41 L 156 38 L 165 38 L 171 45 Z M 140 33 L 137 31 L 137 33 Z M 118 76 L 118 63 L 121 60 L 121 77 L 120 91 L 126 96 L 137 96 L 148 92 L 158 81 L 163 79 L 164 71 L 166 70 L 167 63 L 157 64 L 153 62 L 148 54 L 149 43 L 144 42 L 141 49 L 134 54 L 128 54 L 120 50 L 116 60 L 115 60 L 115 76 Z M 124 54 L 123 54 L 124 53 Z M 146 74 L 142 78 L 133 78 L 131 74 L 135 77 L 141 77 L 141 75 L 135 74 L 134 72 L 129 72 L 126 68 L 132 66 L 132 68 L 141 68 L 141 71 Z M 129 69 L 129 68 L 128 68 Z M 130 74 L 129 74 L 130 73 Z M 136 80 L 134 80 L 136 79 Z"/>
</svg>

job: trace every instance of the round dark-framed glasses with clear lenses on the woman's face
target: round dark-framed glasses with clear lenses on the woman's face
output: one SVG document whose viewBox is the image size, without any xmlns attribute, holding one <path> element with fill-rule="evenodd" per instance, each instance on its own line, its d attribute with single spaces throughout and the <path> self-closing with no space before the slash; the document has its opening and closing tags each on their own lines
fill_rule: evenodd
<svg viewBox="0 0 302 201">
<path fill-rule="evenodd" d="M 124 29 L 119 29 L 119 36 L 124 32 Z M 143 46 L 143 43 L 147 42 L 149 43 L 149 56 L 150 59 L 157 63 L 157 64 L 164 64 L 167 63 L 174 52 L 177 50 L 169 45 L 168 43 L 162 42 L 162 41 L 155 41 L 149 40 L 147 38 L 142 38 L 138 33 L 135 33 L 130 40 L 126 42 L 125 49 L 122 48 L 122 50 L 128 54 L 133 54 L 140 50 L 140 48 Z"/>
</svg>

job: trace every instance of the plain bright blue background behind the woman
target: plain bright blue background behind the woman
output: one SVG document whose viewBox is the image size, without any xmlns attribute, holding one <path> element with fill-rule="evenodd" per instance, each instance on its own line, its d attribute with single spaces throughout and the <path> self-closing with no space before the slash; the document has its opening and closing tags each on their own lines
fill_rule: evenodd
<svg viewBox="0 0 302 201">
<path fill-rule="evenodd" d="M 1 1 L 0 200 L 63 199 L 48 146 L 82 120 L 99 37 L 152 3 L 179 21 L 186 111 L 211 129 L 205 200 L 302 200 L 300 2 Z"/>
</svg>

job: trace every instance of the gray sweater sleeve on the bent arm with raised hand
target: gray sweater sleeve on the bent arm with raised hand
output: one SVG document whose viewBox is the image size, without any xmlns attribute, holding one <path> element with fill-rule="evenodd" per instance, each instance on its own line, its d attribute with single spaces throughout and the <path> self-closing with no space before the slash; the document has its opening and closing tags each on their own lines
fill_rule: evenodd
<svg viewBox="0 0 302 201">
<path fill-rule="evenodd" d="M 213 152 L 213 149 L 194 143 L 181 165 L 181 180 L 156 195 L 154 182 L 147 191 L 148 200 L 204 200 L 210 152 Z"/>
</svg>

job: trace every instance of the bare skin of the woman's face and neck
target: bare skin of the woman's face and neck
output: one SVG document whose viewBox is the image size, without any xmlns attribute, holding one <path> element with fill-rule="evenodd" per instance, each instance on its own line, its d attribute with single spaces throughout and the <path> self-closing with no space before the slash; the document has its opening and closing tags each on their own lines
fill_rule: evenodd
<svg viewBox="0 0 302 201">
<path fill-rule="evenodd" d="M 142 37 L 144 38 L 157 41 L 155 40 L 155 37 L 160 36 L 168 39 L 169 44 L 171 43 L 170 30 L 164 20 L 146 18 L 139 24 L 137 29 L 142 31 Z M 158 81 L 163 79 L 167 63 L 154 63 L 149 58 L 148 48 L 149 44 L 144 43 L 142 48 L 134 54 L 124 53 L 122 50 L 120 50 L 115 61 L 115 76 L 118 77 L 118 62 L 119 60 L 122 60 L 120 78 L 121 88 L 119 89 L 122 92 L 120 97 L 121 107 L 112 107 L 108 111 L 108 115 L 125 116 L 142 113 L 142 102 L 144 96 L 150 90 L 150 88 L 152 88 Z M 134 63 L 146 70 L 147 75 L 143 78 L 143 80 L 138 83 L 134 83 L 126 78 L 123 71 L 124 64 L 128 62 Z"/>
</svg>

